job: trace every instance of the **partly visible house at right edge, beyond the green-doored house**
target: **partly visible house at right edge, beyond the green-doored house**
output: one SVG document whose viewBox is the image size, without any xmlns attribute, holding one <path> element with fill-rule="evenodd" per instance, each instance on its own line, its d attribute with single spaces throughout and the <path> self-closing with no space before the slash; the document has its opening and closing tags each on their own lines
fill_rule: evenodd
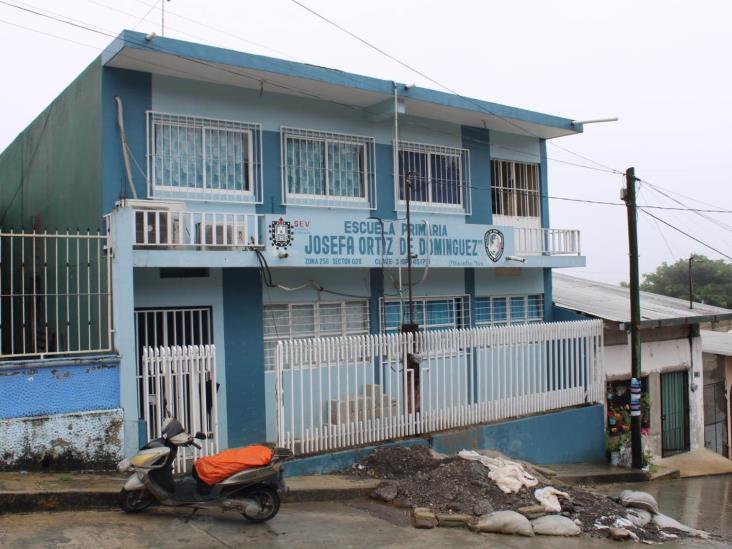
<svg viewBox="0 0 732 549">
<path fill-rule="evenodd" d="M 702 330 L 704 446 L 732 459 L 732 333 Z"/>
</svg>

